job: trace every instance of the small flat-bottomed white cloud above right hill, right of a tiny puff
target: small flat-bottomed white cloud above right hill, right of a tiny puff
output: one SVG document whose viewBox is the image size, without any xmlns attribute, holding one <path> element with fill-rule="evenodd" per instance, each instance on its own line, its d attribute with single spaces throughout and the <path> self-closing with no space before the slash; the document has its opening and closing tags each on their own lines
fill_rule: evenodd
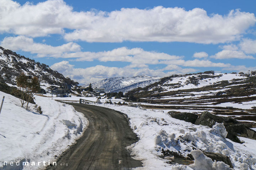
<svg viewBox="0 0 256 170">
<path fill-rule="evenodd" d="M 248 56 L 243 51 L 237 51 L 237 50 L 222 50 L 210 57 L 215 59 L 229 59 L 229 58 L 254 59 L 253 56 Z"/>
</svg>

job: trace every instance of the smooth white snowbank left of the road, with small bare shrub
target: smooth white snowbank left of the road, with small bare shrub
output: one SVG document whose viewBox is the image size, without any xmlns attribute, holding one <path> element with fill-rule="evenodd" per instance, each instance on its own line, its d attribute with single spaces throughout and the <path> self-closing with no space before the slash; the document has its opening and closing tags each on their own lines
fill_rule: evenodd
<svg viewBox="0 0 256 170">
<path fill-rule="evenodd" d="M 1 99 L 2 96 L 5 100 L 0 114 L 0 167 L 4 162 L 26 160 L 30 166 L 24 166 L 24 170 L 43 168 L 43 161 L 46 165 L 55 161 L 54 156 L 69 148 L 88 125 L 82 113 L 52 98 L 35 96 L 34 101 L 43 111 L 38 114 L 34 104 L 27 111 L 21 108 L 18 98 L 0 91 Z M 31 165 L 32 162 L 36 164 Z"/>
</svg>

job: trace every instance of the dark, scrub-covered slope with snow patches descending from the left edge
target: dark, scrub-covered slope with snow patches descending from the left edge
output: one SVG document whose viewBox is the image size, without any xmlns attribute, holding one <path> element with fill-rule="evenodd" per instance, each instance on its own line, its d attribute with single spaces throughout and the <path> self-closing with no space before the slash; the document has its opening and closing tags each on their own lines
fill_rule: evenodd
<svg viewBox="0 0 256 170">
<path fill-rule="evenodd" d="M 30 58 L 0 47 L 0 80 L 14 85 L 16 77 L 21 72 L 26 75 L 38 76 L 42 80 L 41 85 L 44 86 L 63 86 L 63 83 L 68 83 L 74 87 L 79 84 L 50 69 L 46 64 L 35 62 Z"/>
</svg>

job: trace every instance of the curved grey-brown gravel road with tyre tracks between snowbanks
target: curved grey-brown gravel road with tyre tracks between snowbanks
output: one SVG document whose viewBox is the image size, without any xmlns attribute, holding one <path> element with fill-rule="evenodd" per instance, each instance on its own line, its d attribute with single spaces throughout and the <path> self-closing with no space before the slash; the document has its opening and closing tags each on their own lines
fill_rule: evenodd
<svg viewBox="0 0 256 170">
<path fill-rule="evenodd" d="M 59 158 L 57 166 L 48 166 L 47 169 L 128 170 L 142 166 L 126 150 L 127 146 L 137 141 L 137 136 L 122 113 L 87 104 L 67 104 L 84 113 L 89 126 L 77 143 Z"/>
</svg>

